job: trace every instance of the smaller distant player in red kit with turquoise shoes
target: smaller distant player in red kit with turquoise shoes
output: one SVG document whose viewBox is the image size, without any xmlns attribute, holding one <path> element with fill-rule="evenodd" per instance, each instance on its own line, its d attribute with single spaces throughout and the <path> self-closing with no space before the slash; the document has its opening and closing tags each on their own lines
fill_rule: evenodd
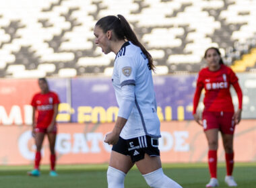
<svg viewBox="0 0 256 188">
<path fill-rule="evenodd" d="M 55 140 L 57 135 L 56 117 L 58 113 L 59 97 L 56 93 L 49 91 L 49 85 L 46 79 L 38 79 L 40 93 L 36 93 L 32 98 L 32 135 L 36 140 L 36 156 L 34 160 L 34 170 L 28 172 L 28 175 L 39 176 L 39 165 L 41 160 L 40 150 L 44 135 L 47 134 L 51 150 L 51 171 L 50 175 L 55 177 Z M 37 111 L 37 118 L 36 118 Z"/>
</svg>

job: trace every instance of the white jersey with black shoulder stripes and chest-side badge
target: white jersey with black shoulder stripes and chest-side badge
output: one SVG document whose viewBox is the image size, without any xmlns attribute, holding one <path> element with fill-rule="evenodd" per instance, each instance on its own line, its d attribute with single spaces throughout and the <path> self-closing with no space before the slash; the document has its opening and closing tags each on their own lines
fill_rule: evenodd
<svg viewBox="0 0 256 188">
<path fill-rule="evenodd" d="M 125 106 L 121 106 L 125 100 L 125 91 L 122 91 L 122 87 L 135 85 L 133 105 L 120 136 L 123 139 L 144 135 L 159 138 L 160 121 L 156 113 L 152 71 L 148 66 L 148 58 L 138 46 L 131 42 L 123 44 L 115 58 L 112 82 L 119 111 L 125 109 Z"/>
</svg>

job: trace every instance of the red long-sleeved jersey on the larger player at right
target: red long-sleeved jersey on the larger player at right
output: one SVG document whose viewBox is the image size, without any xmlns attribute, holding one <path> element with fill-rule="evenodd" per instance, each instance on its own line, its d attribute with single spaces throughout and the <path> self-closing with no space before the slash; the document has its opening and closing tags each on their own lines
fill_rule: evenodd
<svg viewBox="0 0 256 188">
<path fill-rule="evenodd" d="M 228 66 L 225 66 L 224 64 L 221 64 L 218 71 L 210 71 L 209 68 L 203 68 L 199 72 L 197 79 L 197 89 L 194 97 L 193 113 L 196 111 L 199 96 L 203 88 L 205 89 L 205 97 L 203 99 L 205 111 L 234 112 L 234 106 L 230 94 L 230 85 L 236 85 L 237 82 L 238 78 L 232 69 Z"/>
</svg>

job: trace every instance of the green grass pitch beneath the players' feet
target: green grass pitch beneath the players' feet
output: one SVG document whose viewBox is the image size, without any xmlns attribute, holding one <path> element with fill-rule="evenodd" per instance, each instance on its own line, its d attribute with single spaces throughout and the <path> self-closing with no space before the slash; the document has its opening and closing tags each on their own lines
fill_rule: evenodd
<svg viewBox="0 0 256 188">
<path fill-rule="evenodd" d="M 107 187 L 107 164 L 81 164 L 57 166 L 58 177 L 49 177 L 49 166 L 41 167 L 40 177 L 28 177 L 31 166 L 0 166 L 0 187 L 13 188 L 46 188 L 46 187 Z M 164 173 L 180 183 L 183 188 L 205 187 L 209 181 L 207 164 L 163 164 Z M 224 183 L 226 168 L 218 163 L 218 179 L 220 187 L 228 187 Z M 236 163 L 234 178 L 241 188 L 256 188 L 256 163 Z M 134 167 L 125 179 L 127 188 L 146 188 L 148 185 L 139 171 Z"/>
</svg>

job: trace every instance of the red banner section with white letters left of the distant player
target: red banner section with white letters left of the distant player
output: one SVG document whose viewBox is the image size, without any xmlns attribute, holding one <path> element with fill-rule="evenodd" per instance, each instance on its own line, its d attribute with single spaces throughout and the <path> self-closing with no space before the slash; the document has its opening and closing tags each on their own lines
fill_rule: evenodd
<svg viewBox="0 0 256 188">
<path fill-rule="evenodd" d="M 0 125 L 32 124 L 30 102 L 40 91 L 36 79 L 0 80 Z"/>
</svg>

